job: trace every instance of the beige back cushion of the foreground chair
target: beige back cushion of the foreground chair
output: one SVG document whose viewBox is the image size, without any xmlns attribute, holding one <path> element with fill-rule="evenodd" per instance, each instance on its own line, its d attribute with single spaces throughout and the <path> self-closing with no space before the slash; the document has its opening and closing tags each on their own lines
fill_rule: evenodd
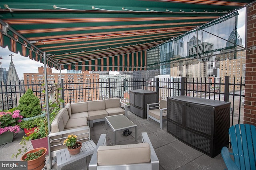
<svg viewBox="0 0 256 170">
<path fill-rule="evenodd" d="M 97 150 L 98 165 L 121 165 L 150 162 L 150 145 L 100 146 Z"/>
</svg>

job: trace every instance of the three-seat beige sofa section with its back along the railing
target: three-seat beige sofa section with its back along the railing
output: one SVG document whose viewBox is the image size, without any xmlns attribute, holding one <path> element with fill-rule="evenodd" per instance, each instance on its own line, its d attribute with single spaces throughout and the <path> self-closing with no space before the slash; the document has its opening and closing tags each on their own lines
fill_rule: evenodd
<svg viewBox="0 0 256 170">
<path fill-rule="evenodd" d="M 127 117 L 128 114 L 127 104 L 121 102 L 119 98 L 68 103 L 65 108 L 68 111 L 70 119 L 86 117 L 90 123 L 90 127 L 93 127 L 93 123 L 95 122 L 105 121 L 106 116 L 125 114 Z"/>
</svg>

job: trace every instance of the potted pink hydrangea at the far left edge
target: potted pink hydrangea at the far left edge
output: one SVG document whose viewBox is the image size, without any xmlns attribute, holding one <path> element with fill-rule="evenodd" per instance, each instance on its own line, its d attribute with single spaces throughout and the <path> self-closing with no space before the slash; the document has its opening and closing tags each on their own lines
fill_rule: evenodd
<svg viewBox="0 0 256 170">
<path fill-rule="evenodd" d="M 12 142 L 13 133 L 20 132 L 19 122 L 22 121 L 20 110 L 10 109 L 0 112 L 0 145 Z"/>
</svg>

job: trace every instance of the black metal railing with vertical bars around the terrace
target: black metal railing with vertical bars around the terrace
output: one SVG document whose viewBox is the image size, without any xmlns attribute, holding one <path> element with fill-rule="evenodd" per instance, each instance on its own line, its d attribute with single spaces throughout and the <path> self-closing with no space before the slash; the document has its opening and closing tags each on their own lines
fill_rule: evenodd
<svg viewBox="0 0 256 170">
<path fill-rule="evenodd" d="M 158 92 L 158 100 L 170 96 L 187 95 L 213 100 L 231 102 L 230 124 L 242 123 L 243 101 L 244 101 L 244 79 L 225 77 L 206 78 L 155 78 L 141 79 L 99 79 L 99 80 L 76 80 L 63 81 L 62 96 L 66 103 L 86 102 L 92 100 L 104 100 L 106 98 L 120 98 L 122 102 L 129 105 L 129 91 L 134 89 L 145 89 Z M 236 83 L 234 83 L 236 82 Z M 31 88 L 44 106 L 45 95 L 43 93 L 43 82 L 9 82 L 0 83 L 0 109 L 8 110 L 18 105 L 18 100 L 28 88 Z M 54 101 L 60 84 L 48 83 L 50 100 Z"/>
</svg>

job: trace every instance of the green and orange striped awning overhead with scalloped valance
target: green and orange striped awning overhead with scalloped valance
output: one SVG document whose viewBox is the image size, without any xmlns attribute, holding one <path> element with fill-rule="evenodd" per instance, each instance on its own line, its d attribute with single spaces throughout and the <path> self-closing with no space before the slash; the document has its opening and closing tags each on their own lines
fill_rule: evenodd
<svg viewBox="0 0 256 170">
<path fill-rule="evenodd" d="M 145 70 L 147 50 L 252 0 L 0 2 L 0 46 L 50 67 Z"/>
</svg>

